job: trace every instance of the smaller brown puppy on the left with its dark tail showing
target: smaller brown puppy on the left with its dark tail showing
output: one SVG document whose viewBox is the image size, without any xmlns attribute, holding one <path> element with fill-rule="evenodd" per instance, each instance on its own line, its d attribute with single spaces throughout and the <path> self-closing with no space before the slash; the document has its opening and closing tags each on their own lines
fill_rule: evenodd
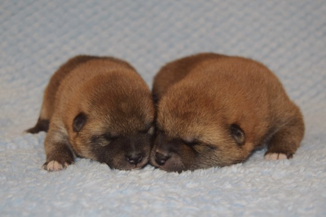
<svg viewBox="0 0 326 217">
<path fill-rule="evenodd" d="M 48 171 L 66 168 L 75 156 L 129 170 L 148 163 L 154 115 L 150 90 L 128 63 L 77 56 L 51 77 L 39 120 L 26 131 L 48 131 Z"/>
</svg>

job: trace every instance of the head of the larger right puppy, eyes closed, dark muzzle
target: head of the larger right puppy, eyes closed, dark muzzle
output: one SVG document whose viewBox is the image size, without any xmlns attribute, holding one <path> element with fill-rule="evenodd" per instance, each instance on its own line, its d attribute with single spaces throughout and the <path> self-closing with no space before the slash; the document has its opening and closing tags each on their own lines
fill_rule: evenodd
<svg viewBox="0 0 326 217">
<path fill-rule="evenodd" d="M 253 150 L 230 107 L 198 85 L 171 87 L 158 103 L 150 162 L 169 172 L 223 167 L 242 162 Z"/>
</svg>

